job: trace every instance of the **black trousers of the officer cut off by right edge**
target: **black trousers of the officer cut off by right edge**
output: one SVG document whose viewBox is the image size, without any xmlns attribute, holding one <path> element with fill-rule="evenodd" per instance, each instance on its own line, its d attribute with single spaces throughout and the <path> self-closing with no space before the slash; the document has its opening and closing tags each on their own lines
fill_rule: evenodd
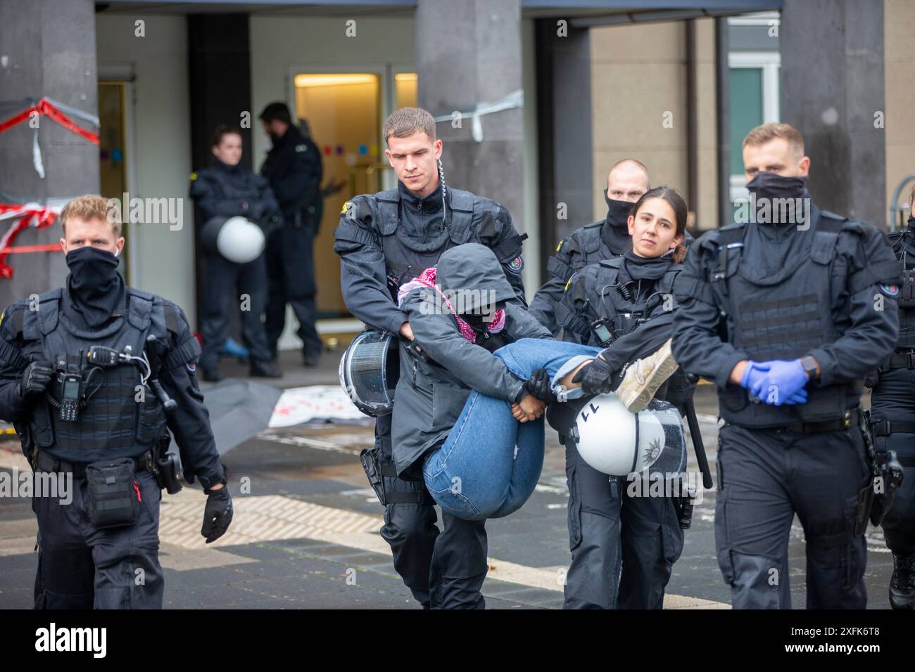
<svg viewBox="0 0 915 672">
<path fill-rule="evenodd" d="M 870 404 L 875 422 L 915 422 L 915 369 L 882 372 Z M 902 485 L 881 525 L 883 536 L 890 550 L 911 555 L 915 553 L 915 434 L 893 432 L 877 436 L 875 443 L 877 453 L 896 451 L 903 471 Z"/>
</svg>

